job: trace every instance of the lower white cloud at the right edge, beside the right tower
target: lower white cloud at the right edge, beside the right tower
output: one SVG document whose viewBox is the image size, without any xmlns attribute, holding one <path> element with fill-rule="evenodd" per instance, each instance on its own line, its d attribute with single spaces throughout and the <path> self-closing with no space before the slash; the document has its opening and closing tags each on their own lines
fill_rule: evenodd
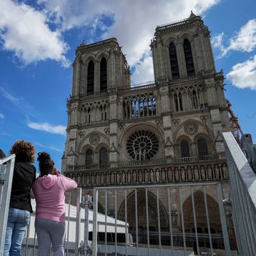
<svg viewBox="0 0 256 256">
<path fill-rule="evenodd" d="M 227 78 L 238 88 L 256 90 L 256 55 L 243 63 L 237 63 Z"/>
</svg>

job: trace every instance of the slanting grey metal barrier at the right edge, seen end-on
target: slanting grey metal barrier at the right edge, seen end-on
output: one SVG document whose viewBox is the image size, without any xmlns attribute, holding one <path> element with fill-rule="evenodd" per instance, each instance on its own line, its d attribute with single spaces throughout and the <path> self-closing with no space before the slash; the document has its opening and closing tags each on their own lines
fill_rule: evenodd
<svg viewBox="0 0 256 256">
<path fill-rule="evenodd" d="M 231 132 L 223 132 L 239 255 L 256 255 L 256 174 Z"/>
</svg>

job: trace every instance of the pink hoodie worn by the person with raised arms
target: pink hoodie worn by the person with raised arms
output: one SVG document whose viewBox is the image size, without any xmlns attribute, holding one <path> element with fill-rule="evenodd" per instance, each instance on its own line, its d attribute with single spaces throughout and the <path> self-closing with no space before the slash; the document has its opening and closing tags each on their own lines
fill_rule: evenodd
<svg viewBox="0 0 256 256">
<path fill-rule="evenodd" d="M 65 221 L 65 192 L 77 188 L 75 180 L 60 175 L 39 177 L 32 186 L 36 198 L 36 219 Z"/>
</svg>

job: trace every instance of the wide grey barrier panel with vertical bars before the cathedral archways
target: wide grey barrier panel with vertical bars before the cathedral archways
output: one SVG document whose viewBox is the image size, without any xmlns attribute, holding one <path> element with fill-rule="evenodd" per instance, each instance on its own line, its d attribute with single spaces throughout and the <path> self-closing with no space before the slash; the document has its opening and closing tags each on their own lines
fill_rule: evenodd
<svg viewBox="0 0 256 256">
<path fill-rule="evenodd" d="M 209 220 L 209 212 L 207 203 L 207 198 L 209 193 L 208 190 L 211 190 L 211 194 L 214 194 L 214 198 L 216 202 L 218 202 L 218 212 L 214 212 L 214 214 L 219 214 L 220 216 L 220 226 L 221 226 L 221 234 L 212 234 L 211 222 Z M 175 193 L 173 192 L 175 190 Z M 143 192 L 141 192 L 143 191 Z M 197 227 L 197 216 L 196 216 L 196 207 L 195 207 L 195 195 L 198 191 L 202 193 L 202 198 L 204 200 L 204 214 L 206 216 L 207 222 L 207 234 L 199 234 L 199 230 Z M 156 214 L 156 230 L 150 230 L 149 223 L 150 221 L 150 210 L 148 205 L 152 204 L 152 195 L 156 195 L 155 211 Z M 161 195 L 162 201 L 159 199 Z M 175 195 L 175 196 L 174 196 Z M 191 196 L 191 205 L 193 209 L 193 227 L 194 232 L 191 230 L 187 230 L 185 228 L 184 221 L 184 209 L 182 209 L 182 205 L 184 203 L 184 196 Z M 151 197 L 150 197 L 151 196 Z M 175 198 L 174 198 L 175 197 Z M 99 223 L 98 223 L 98 198 L 100 198 L 100 202 L 105 202 L 105 217 L 108 214 L 108 204 L 112 202 L 114 205 L 114 215 L 115 215 L 115 239 L 113 239 L 114 244 L 109 244 L 107 242 L 106 236 L 104 240 L 104 244 L 99 244 L 97 241 L 99 240 Z M 166 202 L 163 202 L 163 198 L 166 198 Z M 131 203 L 134 202 L 134 209 L 129 206 L 128 201 Z M 118 207 L 120 207 L 120 202 L 123 202 L 124 206 L 123 211 L 120 214 L 120 209 L 118 212 Z M 166 214 L 168 227 L 163 226 L 163 204 L 165 204 L 168 209 L 168 213 Z M 147 228 L 145 228 L 145 232 L 140 232 L 139 227 L 139 217 L 138 209 L 141 210 L 141 205 L 144 205 L 142 209 L 145 209 L 145 212 L 142 212 L 145 215 L 145 223 L 147 223 Z M 177 227 L 173 227 L 172 221 L 172 207 L 173 205 L 179 205 L 180 212 L 180 227 L 181 230 Z M 134 216 L 134 219 L 130 221 L 132 223 L 128 223 L 128 214 Z M 140 211 L 141 213 L 141 211 Z M 151 216 L 152 217 L 152 216 Z M 117 221 L 118 218 L 121 218 L 122 221 L 125 222 L 125 241 L 120 243 L 118 241 L 118 232 L 117 232 Z M 218 182 L 208 182 L 208 183 L 190 183 L 190 184 L 164 184 L 164 185 L 156 185 L 156 186 L 116 186 L 116 187 L 105 187 L 105 188 L 94 188 L 93 189 L 93 234 L 92 234 L 92 255 L 194 255 L 193 251 L 196 251 L 198 255 L 217 255 L 216 250 L 214 250 L 214 246 L 212 243 L 223 243 L 225 252 L 223 251 L 222 255 L 230 256 L 230 243 L 228 239 L 228 230 L 226 223 L 226 216 L 223 207 L 223 196 L 221 191 L 221 184 Z M 141 221 L 141 220 L 140 220 Z M 106 224 L 105 224 L 106 225 Z M 130 226 L 130 227 L 129 227 Z M 128 228 L 129 227 L 129 228 Z M 129 237 L 129 233 L 132 234 L 134 239 L 133 244 L 127 243 L 126 237 Z M 201 248 L 202 239 L 207 240 L 207 244 L 209 244 L 209 249 L 205 250 L 205 248 Z M 154 241 L 154 243 L 152 243 Z M 170 244 L 170 245 L 168 245 Z M 194 246 L 191 246 L 193 244 Z M 223 249 L 224 249 L 223 248 Z M 220 255 L 220 254 L 218 254 Z"/>
</svg>

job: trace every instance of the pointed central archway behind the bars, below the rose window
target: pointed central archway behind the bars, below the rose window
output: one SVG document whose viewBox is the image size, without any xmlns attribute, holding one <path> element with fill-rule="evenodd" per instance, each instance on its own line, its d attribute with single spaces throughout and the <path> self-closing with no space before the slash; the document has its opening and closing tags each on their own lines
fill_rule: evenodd
<svg viewBox="0 0 256 256">
<path fill-rule="evenodd" d="M 137 205 L 138 205 L 138 227 L 140 230 L 147 230 L 147 213 L 146 213 L 146 193 L 145 189 L 137 190 Z M 159 200 L 159 215 L 161 230 L 168 228 L 168 214 L 164 209 L 164 205 Z M 118 220 L 125 220 L 125 200 L 120 205 L 118 211 Z M 127 196 L 127 222 L 131 229 L 136 228 L 136 216 L 135 216 L 135 192 L 132 191 Z M 157 198 L 148 191 L 148 226 L 150 230 L 158 230 L 157 223 Z"/>
</svg>

